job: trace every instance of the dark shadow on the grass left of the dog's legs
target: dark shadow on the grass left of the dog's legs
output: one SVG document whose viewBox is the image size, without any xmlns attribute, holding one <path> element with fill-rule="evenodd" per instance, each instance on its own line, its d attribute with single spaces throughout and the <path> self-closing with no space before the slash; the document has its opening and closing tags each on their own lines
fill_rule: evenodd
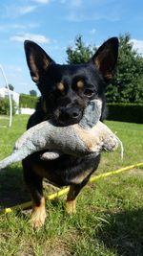
<svg viewBox="0 0 143 256">
<path fill-rule="evenodd" d="M 0 172 L 0 209 L 30 200 L 24 183 L 22 168 L 9 167 Z"/>
</svg>

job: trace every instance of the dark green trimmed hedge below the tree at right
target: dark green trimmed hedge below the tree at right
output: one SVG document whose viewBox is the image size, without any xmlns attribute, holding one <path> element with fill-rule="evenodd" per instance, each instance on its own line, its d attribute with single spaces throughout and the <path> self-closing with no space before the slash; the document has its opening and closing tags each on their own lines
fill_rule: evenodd
<svg viewBox="0 0 143 256">
<path fill-rule="evenodd" d="M 143 124 L 143 104 L 108 104 L 107 119 Z"/>
</svg>

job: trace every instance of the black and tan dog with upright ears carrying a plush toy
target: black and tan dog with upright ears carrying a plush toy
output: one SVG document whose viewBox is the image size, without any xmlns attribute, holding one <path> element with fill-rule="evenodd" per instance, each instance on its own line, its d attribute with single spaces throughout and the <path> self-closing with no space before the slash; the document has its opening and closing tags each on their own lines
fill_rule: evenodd
<svg viewBox="0 0 143 256">
<path fill-rule="evenodd" d="M 87 63 L 57 64 L 30 40 L 25 41 L 25 53 L 31 79 L 41 92 L 27 128 L 49 119 L 60 127 L 77 124 L 92 99 L 102 102 L 102 121 L 106 86 L 112 79 L 118 56 L 117 37 L 105 41 Z M 42 153 L 35 152 L 22 162 L 25 182 L 31 194 L 31 223 L 34 228 L 40 228 L 46 218 L 43 178 L 58 187 L 70 185 L 65 208 L 72 214 L 76 210 L 76 197 L 100 162 L 100 155 L 89 159 L 68 154 L 46 161 L 41 159 Z"/>
</svg>

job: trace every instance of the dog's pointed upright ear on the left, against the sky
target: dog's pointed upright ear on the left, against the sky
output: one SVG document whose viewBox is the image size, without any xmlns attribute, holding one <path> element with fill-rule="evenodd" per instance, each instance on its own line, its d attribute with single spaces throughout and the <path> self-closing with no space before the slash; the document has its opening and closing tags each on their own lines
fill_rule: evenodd
<svg viewBox="0 0 143 256">
<path fill-rule="evenodd" d="M 35 42 L 26 40 L 24 43 L 27 63 L 31 73 L 32 81 L 38 83 L 46 69 L 54 61 Z"/>
</svg>

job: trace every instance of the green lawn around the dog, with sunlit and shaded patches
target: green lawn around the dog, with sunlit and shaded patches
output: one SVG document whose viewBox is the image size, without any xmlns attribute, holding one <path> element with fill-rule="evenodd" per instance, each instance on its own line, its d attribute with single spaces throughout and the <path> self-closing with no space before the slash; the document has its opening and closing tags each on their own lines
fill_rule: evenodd
<svg viewBox="0 0 143 256">
<path fill-rule="evenodd" d="M 0 159 L 26 128 L 28 116 L 15 116 L 11 128 L 0 127 Z M 1 120 L 0 120 L 1 124 Z M 98 174 L 143 161 L 142 125 L 107 122 L 124 144 L 120 151 L 103 153 Z M 1 256 L 142 256 L 143 255 L 143 169 L 98 179 L 83 189 L 77 213 L 68 216 L 64 200 L 47 201 L 45 226 L 33 231 L 28 211 L 0 215 Z M 49 188 L 46 187 L 46 193 Z M 51 190 L 51 188 L 50 188 Z M 29 199 L 21 164 L 0 174 L 0 206 Z"/>
</svg>

